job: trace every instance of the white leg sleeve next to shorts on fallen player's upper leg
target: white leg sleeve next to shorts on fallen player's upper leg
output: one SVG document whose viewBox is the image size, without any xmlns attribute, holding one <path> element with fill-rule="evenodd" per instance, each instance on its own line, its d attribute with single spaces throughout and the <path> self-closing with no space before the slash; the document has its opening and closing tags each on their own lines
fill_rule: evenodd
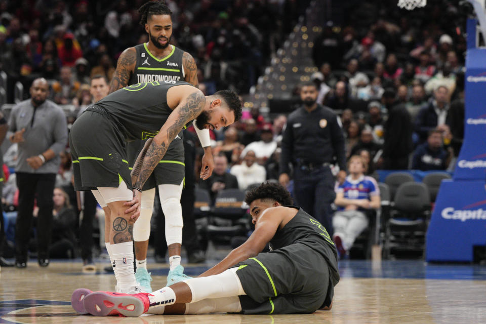
<svg viewBox="0 0 486 324">
<path fill-rule="evenodd" d="M 236 275 L 238 268 L 231 268 L 220 274 L 209 277 L 186 279 L 192 293 L 191 304 L 203 299 L 214 299 L 246 295 L 239 277 Z"/>
</svg>

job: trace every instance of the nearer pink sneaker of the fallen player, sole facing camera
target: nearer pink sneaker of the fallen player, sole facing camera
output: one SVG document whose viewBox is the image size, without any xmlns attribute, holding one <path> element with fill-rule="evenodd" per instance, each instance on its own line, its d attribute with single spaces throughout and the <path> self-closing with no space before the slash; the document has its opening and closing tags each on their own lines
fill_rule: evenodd
<svg viewBox="0 0 486 324">
<path fill-rule="evenodd" d="M 94 292 L 83 298 L 84 308 L 94 316 L 124 315 L 138 317 L 148 311 L 148 293 L 135 295 Z M 153 296 L 153 295 L 150 295 Z"/>
</svg>

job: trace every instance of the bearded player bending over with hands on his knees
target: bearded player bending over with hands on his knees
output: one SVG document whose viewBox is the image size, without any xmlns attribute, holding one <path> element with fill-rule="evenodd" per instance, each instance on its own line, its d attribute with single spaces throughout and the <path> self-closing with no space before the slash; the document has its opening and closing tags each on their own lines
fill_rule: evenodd
<svg viewBox="0 0 486 324">
<path fill-rule="evenodd" d="M 205 97 L 186 82 L 154 81 L 115 91 L 77 118 L 69 134 L 74 189 L 92 190 L 109 215 L 105 228 L 110 229 L 116 291 L 141 290 L 133 268 L 133 224 L 140 215 L 141 188 L 170 143 L 194 119 L 199 129 L 220 129 L 240 117 L 241 101 L 232 91 Z M 131 174 L 125 143 L 147 134 L 156 135 L 146 142 L 138 159 L 143 163 Z"/>
</svg>

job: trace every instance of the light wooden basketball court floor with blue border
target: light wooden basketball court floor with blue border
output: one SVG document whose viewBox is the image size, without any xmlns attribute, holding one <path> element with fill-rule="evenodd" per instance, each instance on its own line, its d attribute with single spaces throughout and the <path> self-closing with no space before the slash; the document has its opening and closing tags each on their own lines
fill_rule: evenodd
<svg viewBox="0 0 486 324">
<path fill-rule="evenodd" d="M 184 260 L 183 260 L 184 261 Z M 187 265 L 197 275 L 206 265 Z M 76 288 L 112 290 L 113 274 L 80 271 L 81 262 L 51 262 L 40 268 L 36 260 L 26 269 L 2 268 L 0 272 L 0 323 L 486 323 L 486 267 L 437 265 L 413 261 L 343 261 L 333 309 L 296 315 L 146 315 L 94 317 L 78 315 L 71 308 Z M 165 264 L 149 264 L 152 288 L 166 284 Z"/>
</svg>

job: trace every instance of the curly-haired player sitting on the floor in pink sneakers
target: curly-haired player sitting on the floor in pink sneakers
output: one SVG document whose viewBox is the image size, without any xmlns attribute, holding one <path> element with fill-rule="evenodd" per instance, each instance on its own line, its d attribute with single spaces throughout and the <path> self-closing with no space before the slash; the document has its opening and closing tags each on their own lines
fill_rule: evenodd
<svg viewBox="0 0 486 324">
<path fill-rule="evenodd" d="M 262 184 L 245 201 L 255 231 L 198 278 L 152 294 L 74 291 L 79 312 L 96 316 L 153 314 L 312 313 L 332 307 L 339 281 L 337 252 L 327 230 L 292 204 L 279 184 Z M 260 253 L 270 244 L 271 252 Z"/>
</svg>

